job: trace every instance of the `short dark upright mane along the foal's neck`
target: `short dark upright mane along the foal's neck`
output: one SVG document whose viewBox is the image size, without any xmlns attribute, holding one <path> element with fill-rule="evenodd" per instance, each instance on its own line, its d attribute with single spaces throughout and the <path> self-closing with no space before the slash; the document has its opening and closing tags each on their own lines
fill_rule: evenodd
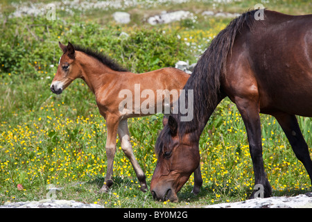
<svg viewBox="0 0 312 222">
<path fill-rule="evenodd" d="M 107 67 L 110 67 L 110 69 L 114 71 L 128 71 L 127 69 L 119 65 L 115 60 L 104 55 L 103 53 L 99 51 L 87 48 L 85 46 L 76 45 L 76 44 L 73 45 L 73 49 L 75 49 L 75 51 L 82 51 L 83 53 L 86 53 L 88 56 L 92 56 L 93 58 L 96 58 L 98 61 L 102 62 L 104 65 L 106 65 Z"/>
</svg>

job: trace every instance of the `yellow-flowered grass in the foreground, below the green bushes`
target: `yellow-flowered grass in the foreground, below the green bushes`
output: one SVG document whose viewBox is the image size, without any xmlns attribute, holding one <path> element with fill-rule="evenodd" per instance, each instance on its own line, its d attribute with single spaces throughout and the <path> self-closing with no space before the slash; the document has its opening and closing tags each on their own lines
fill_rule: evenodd
<svg viewBox="0 0 312 222">
<path fill-rule="evenodd" d="M 49 79 L 37 81 L 38 85 L 48 89 L 49 82 Z M 79 90 L 81 94 L 91 94 L 82 82 L 74 82 L 61 96 L 51 96 L 50 92 L 44 92 L 48 90 L 43 90 L 38 97 L 44 99 L 33 103 L 33 110 L 28 110 L 26 105 L 36 97 L 30 92 L 29 97 L 18 99 L 17 90 L 22 95 L 24 90 L 11 87 L 2 83 L 2 95 L 11 98 L 10 101 L 22 103 L 25 108 L 13 109 L 12 117 L 1 121 L 1 203 L 46 198 L 48 185 L 64 187 L 58 191 L 58 198 L 96 202 L 106 207 L 178 207 L 232 202 L 245 200 L 253 189 L 245 128 L 239 112 L 227 100 L 218 106 L 200 140 L 204 184 L 199 196 L 190 194 L 191 177 L 180 191 L 180 203 L 173 204 L 155 202 L 149 192 L 139 191 L 135 172 L 119 142 L 114 159 L 115 183 L 110 193 L 97 193 L 105 176 L 106 128 L 92 98 L 87 98 L 89 101 L 85 102 L 84 109 L 74 104 L 76 100 L 70 100 L 76 98 Z M 37 92 L 35 87 L 33 89 Z M 10 104 L 11 107 L 14 105 L 17 104 Z M 1 110 L 6 107 L 1 106 Z M 81 115 L 83 112 L 85 116 Z M 309 176 L 295 158 L 275 119 L 266 115 L 261 119 L 263 155 L 273 194 L 293 195 L 309 191 Z M 311 120 L 301 119 L 300 122 L 310 124 L 307 128 L 311 129 Z M 162 128 L 162 116 L 130 119 L 129 126 L 135 155 L 149 183 L 157 161 L 153 144 Z M 305 137 L 311 144 L 309 130 Z M 19 191 L 17 184 L 23 185 L 24 190 Z"/>
</svg>

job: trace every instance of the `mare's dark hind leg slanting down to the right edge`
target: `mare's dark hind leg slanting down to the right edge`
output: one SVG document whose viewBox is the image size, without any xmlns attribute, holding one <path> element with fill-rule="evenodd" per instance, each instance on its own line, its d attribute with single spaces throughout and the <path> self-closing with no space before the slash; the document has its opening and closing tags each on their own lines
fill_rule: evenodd
<svg viewBox="0 0 312 222">
<path fill-rule="evenodd" d="M 291 148 L 304 164 L 306 171 L 309 173 L 311 184 L 312 184 L 312 161 L 309 154 L 309 147 L 302 136 L 300 127 L 298 125 L 297 119 L 295 115 L 290 114 L 275 114 L 275 118 L 279 122 L 279 125 L 284 130 L 286 137 L 288 138 L 289 143 L 291 144 Z"/>
</svg>

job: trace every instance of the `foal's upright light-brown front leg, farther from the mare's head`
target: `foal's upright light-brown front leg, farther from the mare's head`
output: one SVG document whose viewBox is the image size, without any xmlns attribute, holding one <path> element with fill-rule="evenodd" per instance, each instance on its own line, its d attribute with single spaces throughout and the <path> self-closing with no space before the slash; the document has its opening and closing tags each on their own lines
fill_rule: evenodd
<svg viewBox="0 0 312 222">
<path fill-rule="evenodd" d="M 116 153 L 116 137 L 119 126 L 119 118 L 114 116 L 108 116 L 106 119 L 107 126 L 107 138 L 106 138 L 106 156 L 107 156 L 107 171 L 104 180 L 104 185 L 100 189 L 100 193 L 107 192 L 112 186 L 112 173 L 114 167 L 114 156 Z"/>
</svg>

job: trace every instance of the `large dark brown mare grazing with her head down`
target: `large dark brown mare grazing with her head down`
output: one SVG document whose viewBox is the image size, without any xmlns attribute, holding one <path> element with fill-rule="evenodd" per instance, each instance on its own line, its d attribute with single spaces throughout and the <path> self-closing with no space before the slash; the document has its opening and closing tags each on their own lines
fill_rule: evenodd
<svg viewBox="0 0 312 222">
<path fill-rule="evenodd" d="M 171 114 L 157 138 L 158 160 L 150 184 L 154 198 L 177 201 L 177 192 L 193 172 L 193 192 L 198 193 L 200 134 L 225 96 L 236 104 L 248 133 L 259 187 L 250 198 L 272 193 L 263 167 L 260 112 L 277 119 L 312 178 L 309 148 L 295 117 L 312 117 L 312 15 L 264 10 L 264 19 L 256 20 L 256 12 L 230 22 L 198 60 L 184 87 L 186 93 L 193 89 L 193 119 L 180 121 L 181 113 Z"/>
</svg>

